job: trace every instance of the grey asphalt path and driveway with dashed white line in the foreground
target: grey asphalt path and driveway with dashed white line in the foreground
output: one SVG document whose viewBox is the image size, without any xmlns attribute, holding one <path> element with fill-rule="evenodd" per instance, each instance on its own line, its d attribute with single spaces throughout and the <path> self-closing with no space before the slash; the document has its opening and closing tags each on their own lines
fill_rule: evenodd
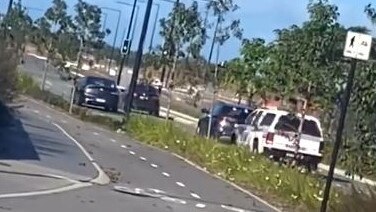
<svg viewBox="0 0 376 212">
<path fill-rule="evenodd" d="M 59 175 L 79 188 L 13 198 L 0 193 L 0 211 L 275 211 L 167 152 L 81 122 L 34 100 L 24 99 L 22 104 L 16 124 L 0 129 L 1 135 L 6 135 L 4 146 L 10 146 L 2 149 L 0 164 L 27 164 L 30 166 L 24 169 L 28 172 Z M 7 174 L 3 169 L 0 173 Z M 95 181 L 100 170 L 111 183 Z M 28 189 L 45 190 L 53 184 L 46 180 L 38 183 L 39 187 Z M 24 184 L 15 183 L 20 188 Z M 2 192 L 3 186 L 0 183 Z M 115 187 L 125 192 L 115 191 Z M 13 193 L 23 194 L 19 192 L 26 191 L 16 189 Z"/>
</svg>

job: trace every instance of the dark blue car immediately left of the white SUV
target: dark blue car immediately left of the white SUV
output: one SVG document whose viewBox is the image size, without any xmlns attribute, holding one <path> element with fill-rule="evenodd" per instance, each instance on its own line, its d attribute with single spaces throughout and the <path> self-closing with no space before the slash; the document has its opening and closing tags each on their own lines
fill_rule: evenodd
<svg viewBox="0 0 376 212">
<path fill-rule="evenodd" d="M 217 139 L 230 139 L 235 143 L 236 126 L 244 124 L 245 119 L 253 110 L 250 107 L 218 101 L 214 104 L 211 114 L 208 109 L 202 109 L 205 115 L 199 119 L 196 133 L 200 136 L 207 135 L 210 116 L 212 116 L 210 136 Z"/>
</svg>

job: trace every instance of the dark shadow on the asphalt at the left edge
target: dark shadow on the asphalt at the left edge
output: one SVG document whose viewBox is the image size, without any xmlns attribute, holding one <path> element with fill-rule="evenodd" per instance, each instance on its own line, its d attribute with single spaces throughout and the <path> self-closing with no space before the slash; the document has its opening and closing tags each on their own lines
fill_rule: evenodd
<svg viewBox="0 0 376 212">
<path fill-rule="evenodd" d="M 39 160 L 31 139 L 15 112 L 0 103 L 0 160 Z"/>
</svg>

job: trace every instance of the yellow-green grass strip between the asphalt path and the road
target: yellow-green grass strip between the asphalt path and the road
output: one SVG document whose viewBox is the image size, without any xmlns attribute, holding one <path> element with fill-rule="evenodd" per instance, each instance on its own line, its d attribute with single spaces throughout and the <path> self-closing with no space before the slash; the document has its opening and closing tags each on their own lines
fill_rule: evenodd
<svg viewBox="0 0 376 212">
<path fill-rule="evenodd" d="M 19 79 L 19 91 L 67 111 L 69 103 L 62 97 L 41 91 L 25 75 Z M 172 121 L 145 115 L 132 115 L 127 123 L 111 117 L 90 115 L 86 109 L 74 108 L 76 117 L 113 130 L 125 131 L 138 141 L 177 153 L 228 181 L 234 182 L 264 199 L 279 203 L 288 211 L 317 211 L 324 182 L 296 169 L 279 166 L 244 148 L 192 136 Z M 343 195 L 333 189 L 331 206 L 337 208 Z M 335 210 L 337 211 L 337 210 Z"/>
</svg>

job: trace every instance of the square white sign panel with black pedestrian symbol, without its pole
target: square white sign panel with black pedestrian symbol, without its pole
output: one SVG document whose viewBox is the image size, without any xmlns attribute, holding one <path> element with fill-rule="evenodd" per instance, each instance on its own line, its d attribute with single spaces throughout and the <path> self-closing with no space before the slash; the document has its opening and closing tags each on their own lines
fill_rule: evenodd
<svg viewBox="0 0 376 212">
<path fill-rule="evenodd" d="M 347 32 L 345 57 L 368 60 L 371 51 L 372 36 L 357 32 Z"/>
</svg>

